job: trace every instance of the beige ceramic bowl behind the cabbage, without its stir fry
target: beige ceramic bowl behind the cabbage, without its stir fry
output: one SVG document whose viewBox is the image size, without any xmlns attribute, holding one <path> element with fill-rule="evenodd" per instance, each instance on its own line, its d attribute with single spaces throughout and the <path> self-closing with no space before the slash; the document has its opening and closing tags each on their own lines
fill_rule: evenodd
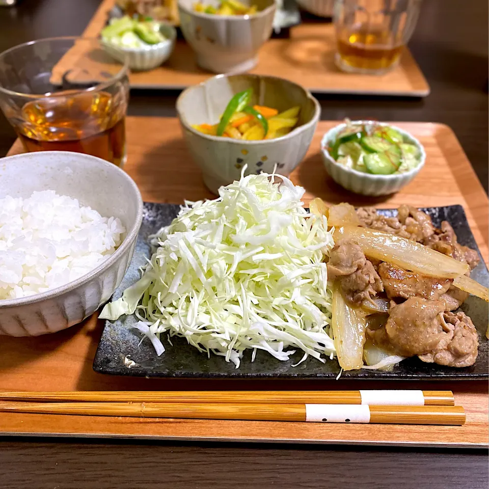
<svg viewBox="0 0 489 489">
<path fill-rule="evenodd" d="M 193 124 L 216 124 L 233 95 L 253 88 L 252 104 L 267 105 L 279 112 L 299 105 L 298 124 L 277 139 L 243 141 L 203 134 Z M 318 101 L 300 85 L 283 78 L 261 75 L 218 75 L 184 90 L 177 99 L 177 114 L 189 152 L 201 167 L 211 192 L 245 175 L 288 175 L 304 158 L 321 113 Z"/>
</svg>

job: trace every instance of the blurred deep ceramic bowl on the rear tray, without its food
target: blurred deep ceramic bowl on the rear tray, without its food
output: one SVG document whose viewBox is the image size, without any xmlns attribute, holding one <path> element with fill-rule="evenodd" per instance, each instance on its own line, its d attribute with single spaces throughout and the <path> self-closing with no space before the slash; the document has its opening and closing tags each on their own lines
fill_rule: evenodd
<svg viewBox="0 0 489 489">
<path fill-rule="evenodd" d="M 275 0 L 242 0 L 254 4 L 252 15 L 213 15 L 196 12 L 195 0 L 178 0 L 180 29 L 197 55 L 197 64 L 214 73 L 241 73 L 257 63 L 258 49 L 271 35 Z M 206 0 L 218 7 L 220 0 Z"/>
</svg>

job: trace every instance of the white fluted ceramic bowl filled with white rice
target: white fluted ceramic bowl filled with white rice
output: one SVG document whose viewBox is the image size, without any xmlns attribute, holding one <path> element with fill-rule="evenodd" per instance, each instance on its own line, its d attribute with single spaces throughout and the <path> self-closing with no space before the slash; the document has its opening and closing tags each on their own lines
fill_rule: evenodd
<svg viewBox="0 0 489 489">
<path fill-rule="evenodd" d="M 142 215 L 137 185 L 103 159 L 0 159 L 0 335 L 54 333 L 93 314 L 122 281 Z"/>
</svg>

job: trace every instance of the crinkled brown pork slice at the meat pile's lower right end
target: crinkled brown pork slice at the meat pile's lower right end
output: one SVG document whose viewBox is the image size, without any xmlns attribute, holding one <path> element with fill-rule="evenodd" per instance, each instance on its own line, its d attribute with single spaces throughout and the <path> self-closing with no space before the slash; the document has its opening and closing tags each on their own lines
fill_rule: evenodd
<svg viewBox="0 0 489 489">
<path fill-rule="evenodd" d="M 441 325 L 447 333 L 440 343 L 427 354 L 420 355 L 423 362 L 434 362 L 449 367 L 468 367 L 477 358 L 479 336 L 469 316 L 463 312 L 444 312 Z"/>
</svg>

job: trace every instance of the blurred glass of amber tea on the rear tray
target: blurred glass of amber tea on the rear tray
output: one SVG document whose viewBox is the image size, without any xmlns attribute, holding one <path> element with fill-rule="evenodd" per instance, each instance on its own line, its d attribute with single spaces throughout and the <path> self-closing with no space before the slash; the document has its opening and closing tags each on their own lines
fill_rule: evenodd
<svg viewBox="0 0 489 489">
<path fill-rule="evenodd" d="M 382 74 L 399 63 L 418 20 L 421 0 L 336 0 L 338 68 Z"/>
</svg>

